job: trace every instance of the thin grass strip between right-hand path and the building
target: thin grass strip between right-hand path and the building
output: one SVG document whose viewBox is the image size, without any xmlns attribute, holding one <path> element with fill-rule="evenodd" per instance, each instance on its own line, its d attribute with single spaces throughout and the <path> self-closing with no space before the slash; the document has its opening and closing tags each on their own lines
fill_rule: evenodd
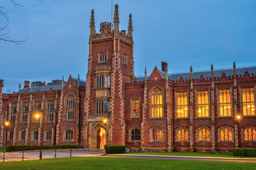
<svg viewBox="0 0 256 170">
<path fill-rule="evenodd" d="M 123 154 L 131 155 L 170 155 L 170 156 L 188 156 L 188 157 L 229 157 L 229 158 L 239 158 L 235 157 L 233 153 L 218 153 L 217 155 L 211 152 L 129 152 Z M 246 158 L 256 158 L 256 157 L 246 157 Z"/>
</svg>

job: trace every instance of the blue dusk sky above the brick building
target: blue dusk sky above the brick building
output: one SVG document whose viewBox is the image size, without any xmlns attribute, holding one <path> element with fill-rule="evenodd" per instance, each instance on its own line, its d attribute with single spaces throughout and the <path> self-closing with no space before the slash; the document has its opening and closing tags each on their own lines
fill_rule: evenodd
<svg viewBox="0 0 256 170">
<path fill-rule="evenodd" d="M 110 0 L 9 1 L 0 6 L 10 18 L 9 32 L 26 38 L 22 45 L 0 42 L 0 79 L 4 91 L 17 90 L 24 80 L 85 80 L 90 13 L 95 25 L 111 21 Z M 113 0 L 119 5 L 120 30 L 127 30 L 132 13 L 134 72 L 151 73 L 161 61 L 170 73 L 256 64 L 255 0 Z M 3 24 L 3 20 L 0 20 Z"/>
</svg>

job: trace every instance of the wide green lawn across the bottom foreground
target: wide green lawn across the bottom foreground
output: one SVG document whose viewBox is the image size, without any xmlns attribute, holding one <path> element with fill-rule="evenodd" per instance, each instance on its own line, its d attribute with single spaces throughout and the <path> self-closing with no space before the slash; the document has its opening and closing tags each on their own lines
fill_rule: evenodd
<svg viewBox="0 0 256 170">
<path fill-rule="evenodd" d="M 0 169 L 255 169 L 256 163 L 110 157 L 0 162 Z"/>
</svg>

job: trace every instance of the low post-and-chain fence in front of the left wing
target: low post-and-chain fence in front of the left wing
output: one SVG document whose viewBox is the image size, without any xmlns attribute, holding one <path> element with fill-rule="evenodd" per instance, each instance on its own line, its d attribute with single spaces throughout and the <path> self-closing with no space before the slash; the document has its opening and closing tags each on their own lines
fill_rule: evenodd
<svg viewBox="0 0 256 170">
<path fill-rule="evenodd" d="M 42 153 L 41 153 L 42 152 Z M 75 154 L 77 156 L 76 151 Z M 79 154 L 79 156 L 83 155 Z M 61 157 L 72 157 L 72 149 L 70 150 L 36 150 L 36 151 L 21 151 L 21 152 L 0 152 L 0 162 L 14 162 L 23 160 L 39 160 L 39 159 L 54 159 Z"/>
</svg>

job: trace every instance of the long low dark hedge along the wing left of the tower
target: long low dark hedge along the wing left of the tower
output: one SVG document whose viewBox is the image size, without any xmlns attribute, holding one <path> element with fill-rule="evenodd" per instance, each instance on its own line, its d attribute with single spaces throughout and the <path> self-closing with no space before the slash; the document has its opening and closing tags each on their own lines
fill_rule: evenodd
<svg viewBox="0 0 256 170">
<path fill-rule="evenodd" d="M 51 149 L 65 149 L 65 148 L 79 148 L 78 145 L 56 145 L 56 146 L 42 146 L 43 150 Z M 21 151 L 21 150 L 40 150 L 40 145 L 10 145 L 6 146 L 6 151 Z"/>
</svg>

